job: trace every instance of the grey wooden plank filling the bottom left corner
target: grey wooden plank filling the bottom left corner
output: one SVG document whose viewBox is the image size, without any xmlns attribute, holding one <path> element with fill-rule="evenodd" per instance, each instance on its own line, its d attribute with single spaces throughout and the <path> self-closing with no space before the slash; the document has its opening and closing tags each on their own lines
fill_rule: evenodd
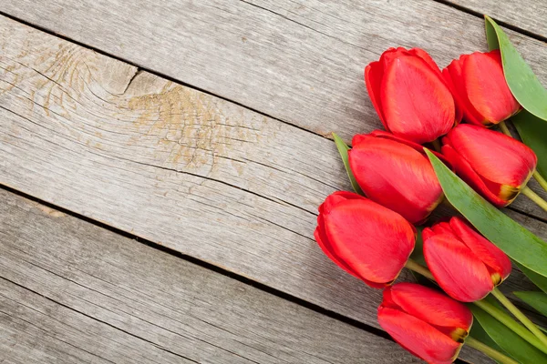
<svg viewBox="0 0 547 364">
<path fill-rule="evenodd" d="M 397 344 L 0 190 L 8 362 L 418 362 Z"/>
</svg>

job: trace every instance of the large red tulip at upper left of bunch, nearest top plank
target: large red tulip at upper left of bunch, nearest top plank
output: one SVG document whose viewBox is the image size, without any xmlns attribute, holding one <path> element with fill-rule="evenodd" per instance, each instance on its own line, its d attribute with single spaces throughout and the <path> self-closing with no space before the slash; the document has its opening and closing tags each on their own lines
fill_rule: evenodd
<svg viewBox="0 0 547 364">
<path fill-rule="evenodd" d="M 382 124 L 396 136 L 431 142 L 461 119 L 439 66 L 419 48 L 387 49 L 366 66 L 365 82 Z"/>
</svg>

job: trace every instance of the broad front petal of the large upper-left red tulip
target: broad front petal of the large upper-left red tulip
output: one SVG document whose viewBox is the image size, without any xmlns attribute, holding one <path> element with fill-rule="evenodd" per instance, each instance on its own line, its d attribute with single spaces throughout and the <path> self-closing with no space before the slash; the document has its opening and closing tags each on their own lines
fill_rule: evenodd
<svg viewBox="0 0 547 364">
<path fill-rule="evenodd" d="M 380 100 L 389 131 L 418 144 L 433 141 L 454 126 L 449 88 L 420 57 L 400 55 L 384 66 Z"/>
</svg>

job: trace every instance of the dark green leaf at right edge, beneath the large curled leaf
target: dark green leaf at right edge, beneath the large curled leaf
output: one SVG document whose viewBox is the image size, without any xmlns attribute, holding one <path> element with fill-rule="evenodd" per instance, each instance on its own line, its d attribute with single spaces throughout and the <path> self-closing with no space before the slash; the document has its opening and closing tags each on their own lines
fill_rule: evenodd
<svg viewBox="0 0 547 364">
<path fill-rule="evenodd" d="M 547 177 L 547 123 L 526 110 L 512 116 L 511 121 L 524 144 L 531 147 L 538 157 L 538 172 Z"/>
</svg>

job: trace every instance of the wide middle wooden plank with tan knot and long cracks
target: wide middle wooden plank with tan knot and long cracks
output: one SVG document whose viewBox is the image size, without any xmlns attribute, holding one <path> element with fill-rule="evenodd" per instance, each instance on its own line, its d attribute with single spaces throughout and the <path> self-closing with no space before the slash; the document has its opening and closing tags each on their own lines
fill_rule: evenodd
<svg viewBox="0 0 547 364">
<path fill-rule="evenodd" d="M 0 29 L 2 183 L 377 326 L 380 292 L 313 239 L 315 208 L 347 187 L 330 140 L 13 20 Z"/>
</svg>

